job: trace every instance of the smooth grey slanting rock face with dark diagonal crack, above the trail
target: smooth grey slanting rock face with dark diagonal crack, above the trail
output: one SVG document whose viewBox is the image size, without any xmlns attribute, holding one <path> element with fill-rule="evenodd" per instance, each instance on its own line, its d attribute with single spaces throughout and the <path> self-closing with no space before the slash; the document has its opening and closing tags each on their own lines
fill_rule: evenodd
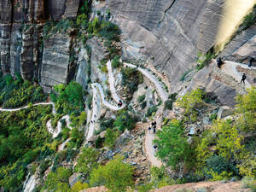
<svg viewBox="0 0 256 192">
<path fill-rule="evenodd" d="M 224 1 L 108 1 L 124 34 L 124 55 L 150 59 L 172 85 L 214 45 Z"/>
</svg>

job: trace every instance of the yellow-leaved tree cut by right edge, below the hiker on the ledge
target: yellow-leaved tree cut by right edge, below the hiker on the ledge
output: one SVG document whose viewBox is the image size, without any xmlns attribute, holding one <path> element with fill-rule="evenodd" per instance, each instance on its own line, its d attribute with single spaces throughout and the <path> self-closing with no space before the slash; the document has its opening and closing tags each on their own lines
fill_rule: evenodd
<svg viewBox="0 0 256 192">
<path fill-rule="evenodd" d="M 247 90 L 247 94 L 236 96 L 236 112 L 241 114 L 238 127 L 244 131 L 256 130 L 256 87 Z"/>
</svg>

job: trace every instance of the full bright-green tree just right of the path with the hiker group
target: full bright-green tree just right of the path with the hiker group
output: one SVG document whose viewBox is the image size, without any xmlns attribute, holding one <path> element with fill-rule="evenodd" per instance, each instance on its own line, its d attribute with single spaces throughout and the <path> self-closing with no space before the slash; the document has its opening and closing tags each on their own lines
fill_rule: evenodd
<svg viewBox="0 0 256 192">
<path fill-rule="evenodd" d="M 193 150 L 184 137 L 184 131 L 180 121 L 172 120 L 170 125 L 166 125 L 157 132 L 157 139 L 154 143 L 158 145 L 156 155 L 166 162 L 167 166 L 182 169 L 183 165 L 191 162 Z"/>
</svg>

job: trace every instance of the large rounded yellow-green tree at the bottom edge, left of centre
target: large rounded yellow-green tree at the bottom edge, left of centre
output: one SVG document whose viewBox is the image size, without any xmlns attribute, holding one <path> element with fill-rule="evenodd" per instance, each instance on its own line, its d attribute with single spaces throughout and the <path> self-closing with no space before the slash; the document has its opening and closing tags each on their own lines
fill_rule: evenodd
<svg viewBox="0 0 256 192">
<path fill-rule="evenodd" d="M 105 185 L 113 192 L 126 191 L 127 187 L 133 186 L 133 169 L 130 165 L 122 162 L 123 158 L 115 157 L 105 166 L 99 166 L 90 174 L 90 185 Z"/>
</svg>

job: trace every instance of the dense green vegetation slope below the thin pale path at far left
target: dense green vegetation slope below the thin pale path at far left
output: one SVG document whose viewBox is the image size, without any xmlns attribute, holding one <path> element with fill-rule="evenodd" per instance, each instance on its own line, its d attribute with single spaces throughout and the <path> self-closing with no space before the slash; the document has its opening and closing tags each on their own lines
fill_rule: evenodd
<svg viewBox="0 0 256 192">
<path fill-rule="evenodd" d="M 0 186 L 20 191 L 27 174 L 26 166 L 55 152 L 50 147 L 45 125 L 51 112 L 51 106 L 0 112 Z"/>
</svg>

